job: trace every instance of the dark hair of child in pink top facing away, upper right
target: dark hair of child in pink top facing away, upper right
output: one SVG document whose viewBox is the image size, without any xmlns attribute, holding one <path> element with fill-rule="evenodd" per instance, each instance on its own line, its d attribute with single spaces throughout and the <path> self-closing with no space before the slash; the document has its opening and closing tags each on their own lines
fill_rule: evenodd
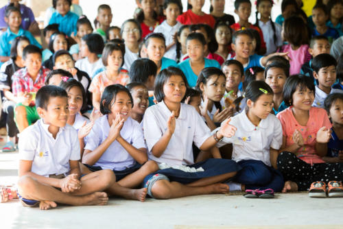
<svg viewBox="0 0 343 229">
<path fill-rule="evenodd" d="M 285 19 L 283 29 L 284 38 L 288 43 L 295 46 L 309 43 L 308 28 L 300 16 L 289 16 Z"/>
</svg>

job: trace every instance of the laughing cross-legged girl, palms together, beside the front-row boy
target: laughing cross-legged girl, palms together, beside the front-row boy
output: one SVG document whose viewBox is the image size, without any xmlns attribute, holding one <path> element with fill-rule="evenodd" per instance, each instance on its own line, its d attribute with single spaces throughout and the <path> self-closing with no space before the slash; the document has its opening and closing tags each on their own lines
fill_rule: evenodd
<svg viewBox="0 0 343 229">
<path fill-rule="evenodd" d="M 132 101 L 130 91 L 121 84 L 105 88 L 100 101 L 103 116 L 86 136 L 82 157 L 91 171 L 112 169 L 118 184 L 126 188 L 139 186 L 158 169 L 154 161 L 147 161 L 143 129 L 130 117 Z"/>
</svg>

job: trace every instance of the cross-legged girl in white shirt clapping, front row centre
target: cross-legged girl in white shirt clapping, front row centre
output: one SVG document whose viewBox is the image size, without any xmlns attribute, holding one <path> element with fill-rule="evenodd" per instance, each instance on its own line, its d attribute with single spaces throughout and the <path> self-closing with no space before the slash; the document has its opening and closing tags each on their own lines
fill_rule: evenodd
<svg viewBox="0 0 343 229">
<path fill-rule="evenodd" d="M 150 160 L 160 170 L 144 180 L 147 193 L 158 199 L 228 193 L 220 184 L 235 176 L 232 160 L 211 158 L 194 164 L 192 143 L 201 150 L 211 149 L 223 136 L 233 136 L 235 128 L 223 123 L 211 135 L 193 106 L 181 103 L 188 84 L 180 69 L 168 67 L 156 77 L 154 95 L 158 104 L 147 108 L 143 118 L 145 141 Z"/>
</svg>

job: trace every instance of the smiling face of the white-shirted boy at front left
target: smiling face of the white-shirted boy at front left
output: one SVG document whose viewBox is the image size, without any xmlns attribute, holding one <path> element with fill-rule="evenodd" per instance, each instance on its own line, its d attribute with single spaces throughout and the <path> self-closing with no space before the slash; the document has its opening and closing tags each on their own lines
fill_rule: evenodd
<svg viewBox="0 0 343 229">
<path fill-rule="evenodd" d="M 50 97 L 47 109 L 38 108 L 37 111 L 45 124 L 62 128 L 66 125 L 69 115 L 68 99 L 67 97 Z"/>
</svg>

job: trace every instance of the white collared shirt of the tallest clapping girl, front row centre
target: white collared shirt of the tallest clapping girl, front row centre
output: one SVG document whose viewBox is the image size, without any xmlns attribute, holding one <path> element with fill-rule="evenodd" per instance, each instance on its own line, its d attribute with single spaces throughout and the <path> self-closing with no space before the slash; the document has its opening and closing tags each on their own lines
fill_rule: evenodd
<svg viewBox="0 0 343 229">
<path fill-rule="evenodd" d="M 156 158 L 152 155 L 152 147 L 167 130 L 167 121 L 171 116 L 164 101 L 147 108 L 143 118 L 144 138 L 149 150 L 149 158 L 158 163 L 168 165 L 194 164 L 192 143 L 200 147 L 211 132 L 206 123 L 193 106 L 181 104 L 180 115 L 176 119 L 176 128 L 171 136 L 165 152 Z"/>
</svg>

